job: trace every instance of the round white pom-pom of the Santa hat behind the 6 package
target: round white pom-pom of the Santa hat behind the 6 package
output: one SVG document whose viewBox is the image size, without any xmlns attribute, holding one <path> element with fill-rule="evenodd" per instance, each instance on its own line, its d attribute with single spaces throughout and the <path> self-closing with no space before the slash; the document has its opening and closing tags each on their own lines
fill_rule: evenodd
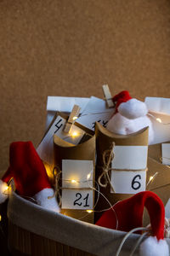
<svg viewBox="0 0 170 256">
<path fill-rule="evenodd" d="M 127 102 L 122 102 L 118 107 L 118 112 L 127 119 L 137 119 L 148 113 L 147 106 L 144 102 L 137 99 L 131 99 Z"/>
</svg>

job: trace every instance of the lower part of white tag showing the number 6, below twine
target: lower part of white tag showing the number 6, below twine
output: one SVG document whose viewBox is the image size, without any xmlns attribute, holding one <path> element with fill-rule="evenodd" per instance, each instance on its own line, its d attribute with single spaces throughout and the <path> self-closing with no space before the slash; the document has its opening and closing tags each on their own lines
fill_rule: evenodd
<svg viewBox="0 0 170 256">
<path fill-rule="evenodd" d="M 136 194 L 145 190 L 145 183 L 146 171 L 111 171 L 111 184 L 115 193 Z"/>
</svg>

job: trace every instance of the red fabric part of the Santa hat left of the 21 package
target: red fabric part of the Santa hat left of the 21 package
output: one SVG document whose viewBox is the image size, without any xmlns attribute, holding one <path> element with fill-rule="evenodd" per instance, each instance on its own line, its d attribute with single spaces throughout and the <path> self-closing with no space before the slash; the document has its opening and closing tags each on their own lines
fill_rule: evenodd
<svg viewBox="0 0 170 256">
<path fill-rule="evenodd" d="M 42 160 L 31 142 L 12 143 L 9 162 L 10 166 L 2 180 L 8 183 L 14 177 L 19 195 L 33 196 L 42 189 L 51 188 Z"/>
</svg>

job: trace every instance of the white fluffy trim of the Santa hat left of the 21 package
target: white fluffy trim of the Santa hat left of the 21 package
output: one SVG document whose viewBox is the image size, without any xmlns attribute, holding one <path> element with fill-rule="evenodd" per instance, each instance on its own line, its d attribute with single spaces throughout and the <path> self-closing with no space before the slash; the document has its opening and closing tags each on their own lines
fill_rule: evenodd
<svg viewBox="0 0 170 256">
<path fill-rule="evenodd" d="M 59 205 L 55 196 L 53 198 L 48 198 L 48 196 L 52 195 L 54 195 L 54 189 L 42 189 L 36 195 L 34 195 L 33 198 L 38 201 L 40 206 L 54 212 L 59 212 Z"/>
</svg>

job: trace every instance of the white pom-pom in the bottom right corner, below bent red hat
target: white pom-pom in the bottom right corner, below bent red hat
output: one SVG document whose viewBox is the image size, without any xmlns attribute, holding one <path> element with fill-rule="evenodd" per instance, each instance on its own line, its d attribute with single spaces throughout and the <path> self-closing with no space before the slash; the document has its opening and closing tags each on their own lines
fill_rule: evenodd
<svg viewBox="0 0 170 256">
<path fill-rule="evenodd" d="M 149 236 L 140 245 L 140 256 L 169 256 L 167 241 L 157 240 L 156 236 Z"/>
</svg>

